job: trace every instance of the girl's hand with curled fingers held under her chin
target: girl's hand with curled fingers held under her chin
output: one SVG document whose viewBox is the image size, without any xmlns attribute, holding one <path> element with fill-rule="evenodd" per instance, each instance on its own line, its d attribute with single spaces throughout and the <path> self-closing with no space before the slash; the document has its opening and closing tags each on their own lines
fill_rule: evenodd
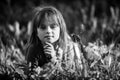
<svg viewBox="0 0 120 80">
<path fill-rule="evenodd" d="M 52 59 L 52 60 L 56 59 L 56 51 L 51 43 L 49 42 L 45 43 L 44 52 L 48 59 Z"/>
</svg>

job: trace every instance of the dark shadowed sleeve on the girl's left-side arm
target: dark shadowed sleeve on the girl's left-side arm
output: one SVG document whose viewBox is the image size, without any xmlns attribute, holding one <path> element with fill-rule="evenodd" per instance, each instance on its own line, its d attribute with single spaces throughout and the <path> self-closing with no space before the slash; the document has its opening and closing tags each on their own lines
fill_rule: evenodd
<svg viewBox="0 0 120 80">
<path fill-rule="evenodd" d="M 39 49 L 39 46 L 35 46 L 35 45 L 31 45 L 28 49 L 27 52 L 27 62 L 31 63 L 34 66 L 43 66 L 45 63 L 47 63 L 46 61 L 46 57 L 43 53 L 43 51 L 41 51 Z"/>
</svg>

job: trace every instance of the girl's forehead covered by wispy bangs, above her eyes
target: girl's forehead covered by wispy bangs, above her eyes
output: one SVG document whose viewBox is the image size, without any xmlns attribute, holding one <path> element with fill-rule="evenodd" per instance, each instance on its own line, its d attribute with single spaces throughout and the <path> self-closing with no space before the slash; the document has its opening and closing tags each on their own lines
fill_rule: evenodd
<svg viewBox="0 0 120 80">
<path fill-rule="evenodd" d="M 45 14 L 45 16 L 42 19 L 42 23 L 44 24 L 58 24 L 58 19 L 55 14 Z"/>
</svg>

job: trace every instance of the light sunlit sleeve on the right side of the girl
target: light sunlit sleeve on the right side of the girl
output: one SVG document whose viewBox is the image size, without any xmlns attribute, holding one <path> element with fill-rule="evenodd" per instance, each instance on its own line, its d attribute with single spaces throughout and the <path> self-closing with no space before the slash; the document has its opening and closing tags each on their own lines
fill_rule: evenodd
<svg viewBox="0 0 120 80">
<path fill-rule="evenodd" d="M 78 43 L 71 42 L 67 46 L 67 52 L 64 53 L 63 68 L 71 73 L 82 75 L 82 53 Z"/>
</svg>

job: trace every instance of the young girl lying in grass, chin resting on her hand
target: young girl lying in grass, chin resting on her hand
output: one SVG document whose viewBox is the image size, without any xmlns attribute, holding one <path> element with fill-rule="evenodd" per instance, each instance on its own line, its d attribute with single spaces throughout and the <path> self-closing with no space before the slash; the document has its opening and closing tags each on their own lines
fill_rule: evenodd
<svg viewBox="0 0 120 80">
<path fill-rule="evenodd" d="M 68 35 L 60 11 L 52 6 L 35 8 L 32 27 L 27 47 L 28 63 L 47 72 L 57 70 L 82 76 L 84 66 L 80 46 Z"/>
</svg>

